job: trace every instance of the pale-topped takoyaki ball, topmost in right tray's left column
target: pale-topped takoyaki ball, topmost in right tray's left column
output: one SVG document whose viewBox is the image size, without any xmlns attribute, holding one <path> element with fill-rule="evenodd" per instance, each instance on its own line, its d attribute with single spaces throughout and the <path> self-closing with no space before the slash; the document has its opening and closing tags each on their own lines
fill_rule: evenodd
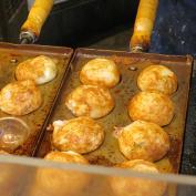
<svg viewBox="0 0 196 196">
<path fill-rule="evenodd" d="M 120 82 L 120 72 L 112 60 L 97 58 L 82 68 L 80 80 L 83 84 L 114 87 Z"/>
</svg>

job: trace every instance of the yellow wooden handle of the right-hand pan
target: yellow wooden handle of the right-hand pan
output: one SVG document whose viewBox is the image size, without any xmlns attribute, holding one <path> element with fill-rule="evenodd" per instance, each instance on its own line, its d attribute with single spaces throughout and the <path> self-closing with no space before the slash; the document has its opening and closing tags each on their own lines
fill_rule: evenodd
<svg viewBox="0 0 196 196">
<path fill-rule="evenodd" d="M 156 18 L 158 0 L 141 0 L 131 39 L 132 52 L 147 51 L 151 43 L 151 35 Z"/>
</svg>

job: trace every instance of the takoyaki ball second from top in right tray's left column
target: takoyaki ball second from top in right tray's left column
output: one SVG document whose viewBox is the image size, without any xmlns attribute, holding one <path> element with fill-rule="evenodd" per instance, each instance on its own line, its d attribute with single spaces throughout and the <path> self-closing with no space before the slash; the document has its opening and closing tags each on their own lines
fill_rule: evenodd
<svg viewBox="0 0 196 196">
<path fill-rule="evenodd" d="M 81 85 L 66 96 L 65 105 L 75 116 L 99 118 L 107 115 L 115 103 L 107 89 Z"/>
</svg>

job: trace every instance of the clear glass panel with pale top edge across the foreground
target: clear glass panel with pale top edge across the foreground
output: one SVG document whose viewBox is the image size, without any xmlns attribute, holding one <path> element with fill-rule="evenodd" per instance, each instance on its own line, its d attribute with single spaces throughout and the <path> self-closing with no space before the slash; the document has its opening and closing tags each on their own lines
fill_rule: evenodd
<svg viewBox="0 0 196 196">
<path fill-rule="evenodd" d="M 196 177 L 0 156 L 3 196 L 195 196 Z"/>
</svg>

